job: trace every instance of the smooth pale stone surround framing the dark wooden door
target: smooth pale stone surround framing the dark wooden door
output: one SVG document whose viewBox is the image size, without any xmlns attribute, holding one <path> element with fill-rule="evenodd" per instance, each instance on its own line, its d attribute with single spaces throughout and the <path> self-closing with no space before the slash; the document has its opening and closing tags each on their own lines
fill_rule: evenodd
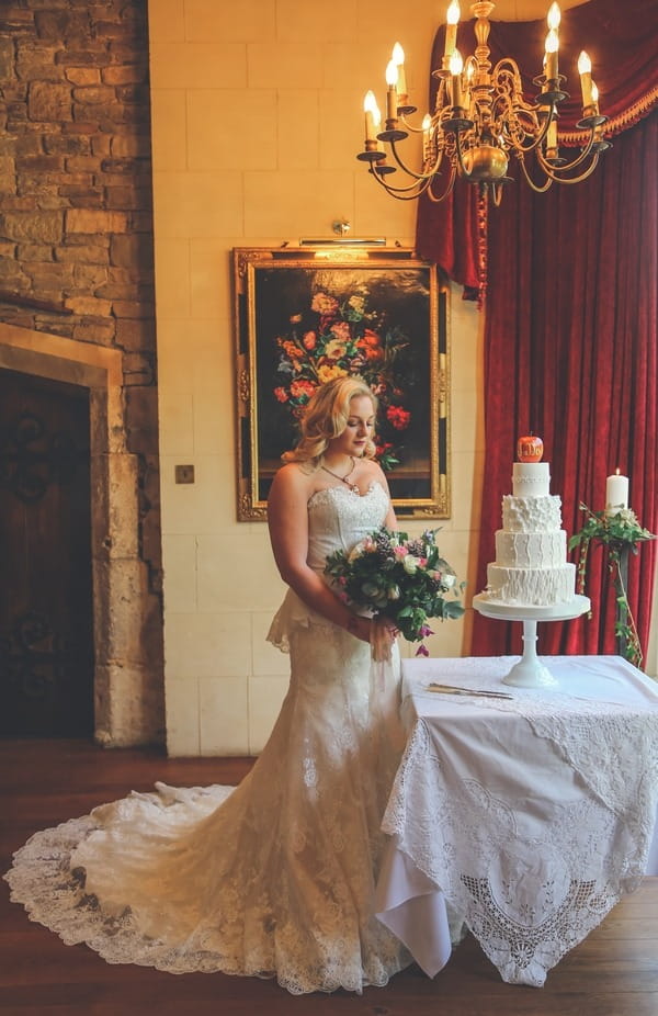
<svg viewBox="0 0 658 1016">
<path fill-rule="evenodd" d="M 126 450 L 122 352 L 0 324 L 1 368 L 89 390 L 94 736 L 115 747 L 161 743 L 161 610 L 139 557 L 138 462 Z"/>
</svg>

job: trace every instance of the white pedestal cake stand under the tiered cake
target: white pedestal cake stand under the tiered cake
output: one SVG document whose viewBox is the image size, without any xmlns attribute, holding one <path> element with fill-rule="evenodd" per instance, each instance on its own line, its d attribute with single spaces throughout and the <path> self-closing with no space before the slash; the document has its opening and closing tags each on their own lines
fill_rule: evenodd
<svg viewBox="0 0 658 1016">
<path fill-rule="evenodd" d="M 575 596 L 568 603 L 553 607 L 514 607 L 490 600 L 486 592 L 473 597 L 473 606 L 485 618 L 523 621 L 523 656 L 514 664 L 503 685 L 517 688 L 556 688 L 557 679 L 537 656 L 537 621 L 570 621 L 590 609 L 587 596 Z"/>
</svg>

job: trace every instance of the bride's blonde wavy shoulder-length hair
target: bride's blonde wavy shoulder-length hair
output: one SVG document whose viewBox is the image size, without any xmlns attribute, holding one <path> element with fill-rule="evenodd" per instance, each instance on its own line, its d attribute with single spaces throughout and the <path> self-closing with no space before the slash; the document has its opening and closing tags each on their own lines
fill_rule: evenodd
<svg viewBox="0 0 658 1016">
<path fill-rule="evenodd" d="M 281 456 L 284 462 L 307 463 L 311 470 L 317 470 L 322 463 L 329 441 L 338 438 L 348 426 L 350 418 L 350 403 L 353 398 L 365 395 L 373 404 L 373 413 L 377 413 L 377 398 L 372 388 L 356 375 L 334 377 L 316 388 L 309 398 L 304 416 L 302 417 L 302 438 L 296 448 L 284 452 Z M 375 443 L 368 438 L 363 455 L 373 459 Z"/>
</svg>

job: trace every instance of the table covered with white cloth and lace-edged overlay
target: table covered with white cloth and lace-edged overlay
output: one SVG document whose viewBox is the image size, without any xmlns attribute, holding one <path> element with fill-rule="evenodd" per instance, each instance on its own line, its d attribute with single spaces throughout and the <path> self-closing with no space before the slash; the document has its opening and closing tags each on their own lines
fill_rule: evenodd
<svg viewBox="0 0 658 1016">
<path fill-rule="evenodd" d="M 469 929 L 504 981 L 541 986 L 658 874 L 658 685 L 619 656 L 554 656 L 556 689 L 511 688 L 517 658 L 402 664 L 376 910 L 430 977 Z"/>
</svg>

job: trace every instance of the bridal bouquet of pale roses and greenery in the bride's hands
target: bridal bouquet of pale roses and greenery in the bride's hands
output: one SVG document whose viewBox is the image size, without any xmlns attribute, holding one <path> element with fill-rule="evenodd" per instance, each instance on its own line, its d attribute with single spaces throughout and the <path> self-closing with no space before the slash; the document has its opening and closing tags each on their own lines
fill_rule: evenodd
<svg viewBox="0 0 658 1016">
<path fill-rule="evenodd" d="M 409 538 L 382 527 L 351 551 L 334 551 L 325 568 L 347 602 L 389 618 L 408 642 L 420 642 L 417 656 L 428 655 L 422 640 L 432 634 L 430 618 L 443 621 L 464 613 L 455 573 L 439 554 L 436 532 Z"/>
</svg>

